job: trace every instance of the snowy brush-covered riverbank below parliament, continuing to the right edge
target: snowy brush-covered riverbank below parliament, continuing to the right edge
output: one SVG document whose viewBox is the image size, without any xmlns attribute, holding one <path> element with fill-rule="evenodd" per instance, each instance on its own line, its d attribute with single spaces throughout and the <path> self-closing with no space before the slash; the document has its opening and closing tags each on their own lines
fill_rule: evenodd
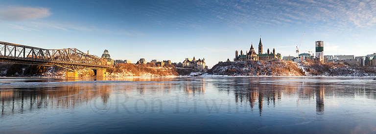
<svg viewBox="0 0 376 134">
<path fill-rule="evenodd" d="M 209 75 L 227 76 L 376 76 L 376 67 L 358 67 L 339 63 L 321 63 L 307 60 L 248 61 L 218 63 Z"/>
</svg>

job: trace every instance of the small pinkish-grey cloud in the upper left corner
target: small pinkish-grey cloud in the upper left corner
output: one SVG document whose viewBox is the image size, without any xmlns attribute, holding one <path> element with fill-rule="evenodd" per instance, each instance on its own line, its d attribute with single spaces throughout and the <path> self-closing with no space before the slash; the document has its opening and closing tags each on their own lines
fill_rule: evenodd
<svg viewBox="0 0 376 134">
<path fill-rule="evenodd" d="M 0 19 L 6 21 L 25 21 L 45 18 L 52 13 L 43 7 L 7 7 L 0 9 Z"/>
</svg>

